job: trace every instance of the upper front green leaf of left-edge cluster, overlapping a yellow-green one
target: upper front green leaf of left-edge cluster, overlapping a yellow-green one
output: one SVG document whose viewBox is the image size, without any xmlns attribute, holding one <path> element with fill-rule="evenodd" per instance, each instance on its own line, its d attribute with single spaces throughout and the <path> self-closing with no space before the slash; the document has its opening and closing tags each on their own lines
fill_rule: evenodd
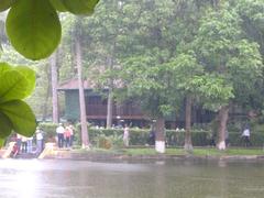
<svg viewBox="0 0 264 198">
<path fill-rule="evenodd" d="M 7 70 L 0 76 L 0 102 L 23 99 L 28 92 L 29 82 L 18 70 Z"/>
</svg>

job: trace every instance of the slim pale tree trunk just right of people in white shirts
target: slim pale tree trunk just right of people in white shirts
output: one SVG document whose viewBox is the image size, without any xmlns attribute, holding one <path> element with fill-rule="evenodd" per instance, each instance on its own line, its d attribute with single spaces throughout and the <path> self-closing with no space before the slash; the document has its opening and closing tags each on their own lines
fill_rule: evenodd
<svg viewBox="0 0 264 198">
<path fill-rule="evenodd" d="M 81 54 L 81 46 L 79 36 L 76 36 L 76 65 L 77 65 L 77 73 L 78 73 L 78 87 L 79 87 L 79 108 L 80 108 L 80 130 L 81 130 L 81 146 L 84 148 L 89 148 L 89 135 L 88 135 L 88 128 L 87 128 L 87 120 L 86 120 L 86 103 L 85 103 L 85 90 L 84 90 L 84 82 L 81 76 L 82 69 L 82 54 Z"/>
</svg>

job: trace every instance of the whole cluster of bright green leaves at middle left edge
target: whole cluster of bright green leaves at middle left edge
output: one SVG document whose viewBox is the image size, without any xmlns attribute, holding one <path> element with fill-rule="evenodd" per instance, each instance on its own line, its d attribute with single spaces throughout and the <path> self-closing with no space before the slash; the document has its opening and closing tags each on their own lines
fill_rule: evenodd
<svg viewBox="0 0 264 198">
<path fill-rule="evenodd" d="M 12 130 L 31 136 L 36 127 L 35 116 L 22 99 L 33 91 L 35 73 L 25 66 L 0 63 L 0 139 Z"/>
</svg>

